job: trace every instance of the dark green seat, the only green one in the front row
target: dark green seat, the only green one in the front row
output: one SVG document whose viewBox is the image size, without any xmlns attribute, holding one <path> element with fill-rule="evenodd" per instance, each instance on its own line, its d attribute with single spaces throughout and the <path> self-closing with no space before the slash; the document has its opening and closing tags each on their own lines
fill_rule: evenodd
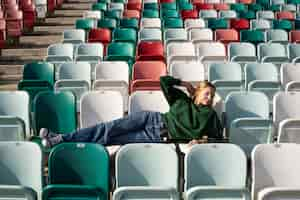
<svg viewBox="0 0 300 200">
<path fill-rule="evenodd" d="M 109 155 L 99 144 L 58 145 L 49 156 L 48 169 L 49 185 L 43 189 L 45 200 L 109 196 Z"/>
</svg>

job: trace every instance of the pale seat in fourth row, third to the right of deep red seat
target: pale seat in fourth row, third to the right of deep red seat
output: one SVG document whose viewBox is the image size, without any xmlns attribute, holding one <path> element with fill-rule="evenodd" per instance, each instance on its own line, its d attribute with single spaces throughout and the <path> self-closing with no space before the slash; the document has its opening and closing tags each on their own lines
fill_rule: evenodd
<svg viewBox="0 0 300 200">
<path fill-rule="evenodd" d="M 231 62 L 257 61 L 256 48 L 250 42 L 229 43 L 227 52 L 228 52 L 229 61 Z"/>
</svg>

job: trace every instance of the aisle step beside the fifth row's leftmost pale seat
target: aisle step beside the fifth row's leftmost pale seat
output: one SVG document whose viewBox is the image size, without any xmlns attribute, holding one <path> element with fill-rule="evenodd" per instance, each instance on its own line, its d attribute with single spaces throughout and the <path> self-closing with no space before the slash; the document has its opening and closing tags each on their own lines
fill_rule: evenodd
<svg viewBox="0 0 300 200">
<path fill-rule="evenodd" d="M 41 36 L 21 36 L 20 45 L 26 46 L 49 46 L 53 43 L 59 43 L 62 40 L 61 35 L 41 35 Z"/>
</svg>

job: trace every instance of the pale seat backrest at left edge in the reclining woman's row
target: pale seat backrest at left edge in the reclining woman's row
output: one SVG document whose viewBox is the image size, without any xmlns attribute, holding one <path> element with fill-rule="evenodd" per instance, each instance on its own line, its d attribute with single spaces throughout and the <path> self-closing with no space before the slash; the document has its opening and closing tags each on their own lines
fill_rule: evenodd
<svg viewBox="0 0 300 200">
<path fill-rule="evenodd" d="M 0 116 L 13 116 L 23 120 L 26 136 L 30 135 L 29 95 L 25 91 L 0 92 Z"/>
</svg>

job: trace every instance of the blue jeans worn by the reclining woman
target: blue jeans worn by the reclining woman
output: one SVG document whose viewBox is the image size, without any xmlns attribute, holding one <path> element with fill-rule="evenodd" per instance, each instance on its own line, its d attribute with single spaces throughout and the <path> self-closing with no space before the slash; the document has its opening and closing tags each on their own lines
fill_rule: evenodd
<svg viewBox="0 0 300 200">
<path fill-rule="evenodd" d="M 159 112 L 142 111 L 62 135 L 64 142 L 93 142 L 102 145 L 161 142 L 163 128 Z"/>
</svg>

